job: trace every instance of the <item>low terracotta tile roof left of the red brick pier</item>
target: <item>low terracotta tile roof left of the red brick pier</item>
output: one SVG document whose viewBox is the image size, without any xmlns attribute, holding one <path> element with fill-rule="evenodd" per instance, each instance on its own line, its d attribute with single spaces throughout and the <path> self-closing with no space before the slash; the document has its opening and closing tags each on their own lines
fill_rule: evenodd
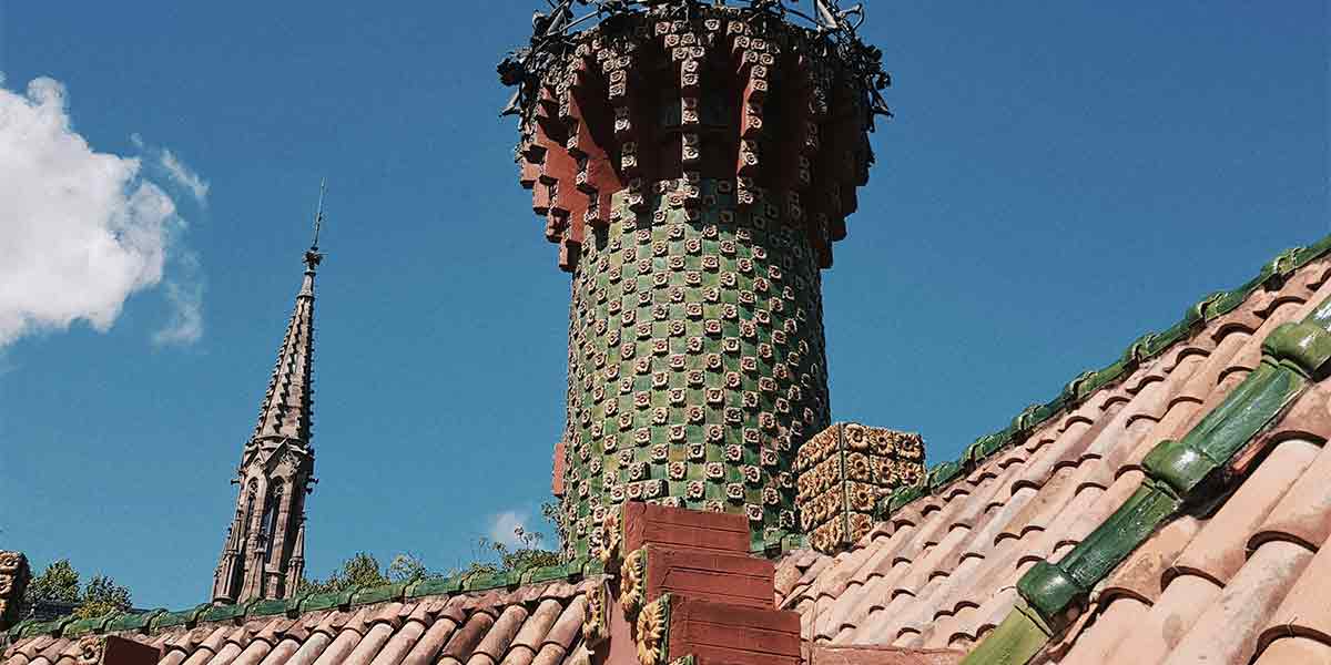
<svg viewBox="0 0 1331 665">
<path fill-rule="evenodd" d="M 459 593 L 430 593 L 457 587 L 458 580 L 427 581 L 291 601 L 158 610 L 100 626 L 20 625 L 11 632 L 16 640 L 0 664 L 72 664 L 81 636 L 105 633 L 161 649 L 162 665 L 574 665 L 584 654 L 586 592 L 603 584 L 602 575 L 578 577 Z M 286 613 L 285 608 L 295 609 Z M 233 616 L 221 618 L 226 614 Z"/>
</svg>

